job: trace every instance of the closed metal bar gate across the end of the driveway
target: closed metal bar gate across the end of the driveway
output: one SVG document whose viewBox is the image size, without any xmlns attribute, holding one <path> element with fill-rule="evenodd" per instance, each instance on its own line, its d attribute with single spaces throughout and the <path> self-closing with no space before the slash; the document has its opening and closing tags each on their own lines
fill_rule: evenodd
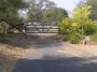
<svg viewBox="0 0 97 72">
<path fill-rule="evenodd" d="M 53 21 L 51 25 L 26 21 L 25 33 L 58 33 L 58 27 L 56 25 L 56 21 Z"/>
</svg>

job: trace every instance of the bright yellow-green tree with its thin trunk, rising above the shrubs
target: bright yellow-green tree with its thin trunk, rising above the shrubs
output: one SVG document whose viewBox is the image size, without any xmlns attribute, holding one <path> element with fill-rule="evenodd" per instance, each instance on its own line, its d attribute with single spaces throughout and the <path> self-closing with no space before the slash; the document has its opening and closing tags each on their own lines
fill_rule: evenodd
<svg viewBox="0 0 97 72">
<path fill-rule="evenodd" d="M 84 34 L 83 26 L 85 25 L 85 21 L 88 19 L 89 15 L 91 15 L 91 9 L 92 9 L 92 6 L 89 6 L 87 4 L 82 4 L 82 5 L 78 6 L 72 13 L 72 18 L 78 20 L 78 23 L 77 21 L 75 23 L 77 23 L 77 26 L 80 25 L 82 34 Z"/>
</svg>

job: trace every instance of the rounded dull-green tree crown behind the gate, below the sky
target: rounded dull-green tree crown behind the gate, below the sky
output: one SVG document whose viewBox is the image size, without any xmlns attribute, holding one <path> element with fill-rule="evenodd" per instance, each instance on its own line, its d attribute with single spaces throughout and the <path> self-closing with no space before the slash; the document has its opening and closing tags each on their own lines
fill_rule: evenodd
<svg viewBox="0 0 97 72">
<path fill-rule="evenodd" d="M 68 17 L 68 13 L 66 10 L 60 8 L 51 8 L 45 10 L 43 13 L 43 20 L 45 21 L 60 21 L 65 17 Z"/>
</svg>

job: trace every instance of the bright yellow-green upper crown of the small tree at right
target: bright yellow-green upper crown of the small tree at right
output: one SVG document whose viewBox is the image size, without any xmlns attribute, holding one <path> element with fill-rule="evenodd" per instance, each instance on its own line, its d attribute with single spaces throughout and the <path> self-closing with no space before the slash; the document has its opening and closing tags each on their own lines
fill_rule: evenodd
<svg viewBox="0 0 97 72">
<path fill-rule="evenodd" d="M 78 6 L 72 13 L 72 18 L 82 19 L 82 20 L 87 19 L 91 14 L 91 9 L 92 6 L 87 4 L 82 4 Z"/>
</svg>

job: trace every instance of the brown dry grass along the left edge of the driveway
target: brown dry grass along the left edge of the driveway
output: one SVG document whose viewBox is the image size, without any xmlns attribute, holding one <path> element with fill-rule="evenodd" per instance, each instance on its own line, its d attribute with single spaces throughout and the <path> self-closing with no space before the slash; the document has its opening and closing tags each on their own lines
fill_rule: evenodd
<svg viewBox="0 0 97 72">
<path fill-rule="evenodd" d="M 32 49 L 0 44 L 0 72 L 12 72 L 16 61 L 25 52 L 29 51 Z"/>
</svg>

